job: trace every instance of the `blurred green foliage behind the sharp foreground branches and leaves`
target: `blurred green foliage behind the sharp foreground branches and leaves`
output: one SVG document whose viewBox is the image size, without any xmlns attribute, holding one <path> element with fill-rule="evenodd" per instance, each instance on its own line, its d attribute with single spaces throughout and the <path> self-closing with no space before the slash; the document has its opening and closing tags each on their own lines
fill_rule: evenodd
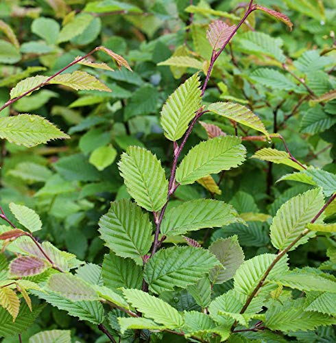
<svg viewBox="0 0 336 343">
<path fill-rule="evenodd" d="M 1 117 L 16 113 L 43 116 L 71 137 L 29 149 L 1 141 L 0 197 L 8 217 L 10 202 L 25 204 L 41 217 L 39 239 L 51 241 L 80 260 L 102 263 L 108 250 L 99 237 L 99 218 L 108 211 L 111 200 L 130 198 L 117 168 L 121 154 L 129 145 L 146 147 L 168 173 L 173 145 L 167 143 L 160 126 L 160 110 L 182 81 L 197 69 L 206 69 L 211 56 L 208 24 L 223 17 L 237 23 L 243 13 L 237 8 L 240 2 L 201 0 L 190 7 L 189 0 L 1 1 L 0 19 L 12 27 L 17 41 L 0 27 L 0 105 L 8 101 L 10 89 L 20 80 L 51 75 L 99 45 L 121 54 L 133 69 L 112 72 L 76 64 L 70 71 L 87 71 L 112 92 L 75 92 L 50 85 L 0 113 Z M 248 104 L 269 132 L 285 138 L 299 161 L 335 173 L 336 100 L 321 106 L 309 102 L 307 96 L 313 92 L 319 97 L 335 88 L 335 36 L 331 30 L 335 29 L 336 1 L 260 0 L 258 4 L 285 12 L 293 21 L 293 32 L 266 14 L 254 12 L 249 27 L 241 27 L 217 61 L 204 101 Z M 176 56 L 182 58 L 178 62 L 170 59 Z M 101 51 L 95 58 L 117 69 Z M 302 78 L 306 87 L 287 69 Z M 202 121 L 235 134 L 230 121 L 214 113 L 204 115 Z M 236 129 L 242 136 L 255 134 L 240 126 Z M 197 124 L 184 151 L 206 137 L 206 130 Z M 237 235 L 249 259 L 276 252 L 269 243 L 270 216 L 283 202 L 313 185 L 293 180 L 276 183 L 293 168 L 251 158 L 261 147 L 284 150 L 282 141 L 272 145 L 246 141 L 244 145 L 248 160 L 242 167 L 226 171 L 220 189 L 213 193 L 232 204 L 249 226 L 203 229 L 190 237 L 208 246 L 219 237 Z M 214 176 L 215 181 L 219 177 Z M 331 180 L 326 189 L 335 191 L 335 183 Z M 169 208 L 211 196 L 202 185 L 182 185 Z M 18 224 L 14 217 L 10 220 Z M 165 241 L 165 246 L 180 242 L 176 236 Z M 319 235 L 289 253 L 291 265 L 320 265 L 333 247 L 335 238 Z M 231 284 L 215 285 L 215 293 L 230 289 Z M 178 309 L 197 307 L 184 292 L 176 292 L 169 302 Z M 45 329 L 71 329 L 73 337 L 82 342 L 106 340 L 95 325 L 78 322 L 55 307 L 45 307 L 23 338 Z M 313 333 L 309 338 L 301 335 L 297 333 L 293 339 L 315 342 Z M 329 342 L 335 339 L 328 329 L 319 335 Z M 163 339 L 169 342 L 171 337 Z M 5 338 L 3 342 L 16 340 Z"/>
</svg>

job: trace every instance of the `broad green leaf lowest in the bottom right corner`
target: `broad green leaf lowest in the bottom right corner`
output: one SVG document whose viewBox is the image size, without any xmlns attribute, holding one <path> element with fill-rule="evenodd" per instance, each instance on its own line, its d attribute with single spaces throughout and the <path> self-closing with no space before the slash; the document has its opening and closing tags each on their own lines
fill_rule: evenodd
<svg viewBox="0 0 336 343">
<path fill-rule="evenodd" d="M 265 313 L 265 326 L 274 331 L 295 332 L 331 325 L 336 319 L 318 312 L 304 311 L 304 299 L 287 300 L 283 305 L 274 301 Z"/>
</svg>

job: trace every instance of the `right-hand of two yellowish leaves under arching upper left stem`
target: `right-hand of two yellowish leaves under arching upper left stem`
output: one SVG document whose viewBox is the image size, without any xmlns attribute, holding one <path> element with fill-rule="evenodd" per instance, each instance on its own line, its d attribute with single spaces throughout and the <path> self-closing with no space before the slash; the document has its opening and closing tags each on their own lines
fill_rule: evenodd
<svg viewBox="0 0 336 343">
<path fill-rule="evenodd" d="M 110 88 L 97 80 L 95 76 L 88 74 L 85 71 L 78 70 L 73 71 L 73 73 L 57 75 L 49 81 L 49 84 L 62 84 L 63 86 L 71 87 L 76 91 L 81 89 L 85 91 L 97 90 L 111 92 Z"/>
</svg>

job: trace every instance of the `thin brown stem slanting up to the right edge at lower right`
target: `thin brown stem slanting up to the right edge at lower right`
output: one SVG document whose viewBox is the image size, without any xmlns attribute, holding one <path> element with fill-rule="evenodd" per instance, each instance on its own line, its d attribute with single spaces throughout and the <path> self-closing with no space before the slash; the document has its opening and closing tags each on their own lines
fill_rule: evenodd
<svg viewBox="0 0 336 343">
<path fill-rule="evenodd" d="M 322 213 L 324 212 L 324 210 L 329 206 L 329 204 L 331 204 L 331 202 L 333 202 L 333 200 L 336 198 L 336 193 L 333 194 L 333 196 L 331 196 L 331 198 L 329 198 L 329 200 L 326 202 L 326 204 L 324 204 L 324 206 L 322 207 L 322 209 L 320 209 L 320 211 L 317 213 L 317 215 L 315 215 L 315 217 L 313 217 L 313 220 L 311 220 L 311 224 L 313 224 L 314 222 L 316 222 L 316 220 L 318 219 L 318 217 L 320 217 L 320 215 L 322 215 Z M 276 255 L 276 258 L 274 259 L 274 261 L 271 263 L 271 265 L 269 265 L 269 267 L 267 268 L 266 272 L 263 274 L 263 277 L 261 278 L 261 280 L 259 281 L 258 285 L 256 285 L 256 287 L 253 289 L 251 295 L 248 297 L 248 300 L 246 300 L 245 304 L 243 305 L 243 308 L 240 311 L 240 314 L 243 314 L 246 309 L 248 308 L 248 306 L 250 305 L 252 299 L 254 298 L 254 296 L 256 295 L 256 293 L 259 291 L 259 289 L 263 286 L 263 283 L 265 282 L 267 276 L 269 275 L 269 273 L 271 272 L 271 270 L 274 268 L 274 265 L 276 265 L 276 263 L 278 263 L 278 261 L 281 259 L 281 257 L 283 257 L 284 255 L 287 254 L 287 252 L 289 252 L 289 250 L 291 250 L 291 248 L 293 248 L 293 246 L 296 245 L 296 243 L 298 243 L 298 241 L 300 241 L 300 239 L 302 237 L 304 237 L 305 235 L 307 235 L 307 233 L 309 233 L 310 230 L 308 228 L 305 228 L 302 233 L 300 233 L 300 235 L 298 235 L 298 237 L 296 237 L 296 239 L 294 239 L 291 244 L 289 244 L 289 246 L 287 246 L 287 248 L 285 248 L 284 250 L 278 252 L 278 255 Z M 235 329 L 237 325 L 237 322 L 235 322 L 232 327 L 231 327 L 231 331 L 233 331 L 233 329 Z"/>
</svg>

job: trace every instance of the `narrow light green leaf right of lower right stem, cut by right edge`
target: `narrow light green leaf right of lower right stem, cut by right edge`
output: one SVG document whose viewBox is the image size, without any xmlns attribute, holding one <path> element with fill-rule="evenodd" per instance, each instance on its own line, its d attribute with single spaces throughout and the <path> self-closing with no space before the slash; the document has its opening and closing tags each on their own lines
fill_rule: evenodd
<svg viewBox="0 0 336 343">
<path fill-rule="evenodd" d="M 283 275 L 274 275 L 269 278 L 271 282 L 278 285 L 284 285 L 299 289 L 300 291 L 320 291 L 336 293 L 336 282 L 328 280 L 322 276 L 305 272 L 304 270 L 297 270 L 295 272 L 287 272 Z"/>
</svg>

